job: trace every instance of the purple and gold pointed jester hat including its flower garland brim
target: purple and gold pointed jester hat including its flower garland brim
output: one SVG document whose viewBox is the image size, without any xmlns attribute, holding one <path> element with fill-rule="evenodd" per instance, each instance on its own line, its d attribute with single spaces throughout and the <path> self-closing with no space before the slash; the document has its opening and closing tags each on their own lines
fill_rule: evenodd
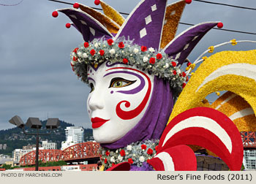
<svg viewBox="0 0 256 184">
<path fill-rule="evenodd" d="M 71 66 L 85 83 L 87 66 L 120 62 L 167 80 L 180 93 L 188 81 L 188 74 L 181 71 L 187 55 L 211 28 L 222 24 L 200 23 L 175 37 L 189 0 L 169 5 L 167 0 L 141 0 L 127 20 L 104 1 L 94 3 L 101 4 L 104 14 L 78 3 L 52 14 L 63 12 L 72 20 L 66 27 L 74 26 L 83 35 L 84 44 L 72 51 Z"/>
</svg>

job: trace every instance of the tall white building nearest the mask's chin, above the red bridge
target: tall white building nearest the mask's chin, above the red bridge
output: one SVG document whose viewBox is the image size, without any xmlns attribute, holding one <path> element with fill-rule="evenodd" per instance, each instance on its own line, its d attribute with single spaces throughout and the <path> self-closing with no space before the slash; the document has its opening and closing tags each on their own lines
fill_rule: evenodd
<svg viewBox="0 0 256 184">
<path fill-rule="evenodd" d="M 68 126 L 65 129 L 66 141 L 61 142 L 61 150 L 69 146 L 83 142 L 83 128 L 78 126 Z"/>
</svg>

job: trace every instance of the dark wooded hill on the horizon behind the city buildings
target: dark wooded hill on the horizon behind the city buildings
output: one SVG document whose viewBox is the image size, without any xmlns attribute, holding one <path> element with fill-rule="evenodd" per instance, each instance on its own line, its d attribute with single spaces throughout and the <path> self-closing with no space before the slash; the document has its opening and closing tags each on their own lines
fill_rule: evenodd
<svg viewBox="0 0 256 184">
<path fill-rule="evenodd" d="M 42 129 L 40 133 L 48 132 L 45 129 L 45 124 L 47 120 L 41 120 Z M 39 144 L 42 144 L 43 140 L 48 139 L 48 141 L 56 142 L 58 149 L 61 147 L 61 142 L 66 140 L 65 129 L 67 126 L 74 126 L 71 123 L 66 123 L 63 120 L 60 121 L 60 126 L 58 129 L 53 129 L 52 133 L 48 136 L 39 136 Z M 26 131 L 35 133 L 36 131 L 32 129 L 27 129 Z M 89 141 L 92 139 L 92 129 L 84 129 L 84 141 Z M 0 154 L 12 155 L 12 151 L 15 149 L 22 149 L 25 145 L 34 145 L 36 144 L 36 136 L 25 135 L 23 134 L 22 129 L 15 127 L 13 129 L 1 130 L 0 131 L 0 145 L 7 144 L 6 150 L 1 149 Z"/>
</svg>

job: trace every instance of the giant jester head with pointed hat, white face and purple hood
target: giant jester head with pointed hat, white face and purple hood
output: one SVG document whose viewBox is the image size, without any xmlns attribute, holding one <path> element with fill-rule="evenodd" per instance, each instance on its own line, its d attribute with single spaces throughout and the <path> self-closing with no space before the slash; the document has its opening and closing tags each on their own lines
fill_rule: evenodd
<svg viewBox="0 0 256 184">
<path fill-rule="evenodd" d="M 85 41 L 73 50 L 71 66 L 91 87 L 87 107 L 94 139 L 110 149 L 159 139 L 188 79 L 181 64 L 217 22 L 200 23 L 175 37 L 184 0 L 170 5 L 142 0 L 125 21 L 100 4 L 105 15 L 78 3 L 58 10 Z"/>
</svg>

